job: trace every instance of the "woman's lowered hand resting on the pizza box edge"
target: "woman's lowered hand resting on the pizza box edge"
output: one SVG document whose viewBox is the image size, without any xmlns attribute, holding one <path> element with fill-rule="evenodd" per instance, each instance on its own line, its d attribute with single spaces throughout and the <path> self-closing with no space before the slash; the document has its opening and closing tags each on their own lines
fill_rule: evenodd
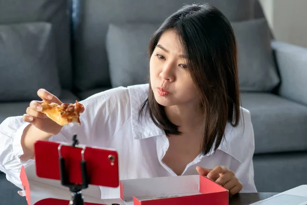
<svg viewBox="0 0 307 205">
<path fill-rule="evenodd" d="M 198 173 L 206 176 L 218 185 L 221 185 L 229 191 L 229 195 L 234 195 L 242 190 L 243 186 L 234 172 L 225 166 L 216 166 L 213 170 L 196 167 Z"/>
</svg>

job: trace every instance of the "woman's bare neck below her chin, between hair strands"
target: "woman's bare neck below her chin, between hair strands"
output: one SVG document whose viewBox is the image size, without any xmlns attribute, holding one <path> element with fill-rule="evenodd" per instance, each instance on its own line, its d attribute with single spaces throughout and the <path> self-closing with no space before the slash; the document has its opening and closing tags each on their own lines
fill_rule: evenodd
<svg viewBox="0 0 307 205">
<path fill-rule="evenodd" d="M 172 124 L 179 126 L 183 134 L 195 132 L 204 125 L 204 115 L 199 106 L 164 107 L 167 118 Z"/>
</svg>

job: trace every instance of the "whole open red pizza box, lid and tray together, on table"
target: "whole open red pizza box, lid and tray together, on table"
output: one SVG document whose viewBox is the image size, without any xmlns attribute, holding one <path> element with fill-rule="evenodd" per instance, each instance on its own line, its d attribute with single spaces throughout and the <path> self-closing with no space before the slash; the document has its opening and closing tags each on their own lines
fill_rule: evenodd
<svg viewBox="0 0 307 205">
<path fill-rule="evenodd" d="M 68 188 L 33 173 L 35 165 L 21 169 L 20 174 L 29 205 L 68 204 Z M 99 186 L 90 185 L 82 193 L 85 205 L 229 204 L 228 190 L 200 175 L 120 180 L 120 198 L 115 199 L 101 199 Z"/>
</svg>

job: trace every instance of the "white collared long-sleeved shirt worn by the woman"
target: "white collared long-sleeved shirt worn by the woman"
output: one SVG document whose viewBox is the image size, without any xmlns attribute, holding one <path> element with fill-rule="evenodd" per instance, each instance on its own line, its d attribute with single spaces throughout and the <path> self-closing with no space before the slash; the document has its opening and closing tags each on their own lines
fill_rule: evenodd
<svg viewBox="0 0 307 205">
<path fill-rule="evenodd" d="M 169 142 L 165 132 L 147 116 L 139 120 L 138 111 L 148 96 L 148 84 L 119 87 L 97 93 L 80 103 L 85 111 L 80 115 L 81 126 L 70 124 L 50 138 L 70 143 L 73 134 L 79 144 L 116 149 L 119 156 L 120 179 L 176 176 L 162 161 Z M 230 124 L 225 139 L 216 152 L 199 155 L 188 163 L 182 175 L 198 174 L 196 166 L 213 169 L 227 166 L 242 182 L 241 192 L 257 192 L 254 184 L 254 133 L 250 112 L 241 108 L 239 125 Z M 28 122 L 22 116 L 9 117 L 0 125 L 0 170 L 7 179 L 22 188 L 19 179 L 21 166 L 26 168 L 35 160 L 20 161 L 23 155 L 20 139 Z M 47 153 L 48 154 L 48 153 Z M 97 161 L 99 163 L 99 161 Z M 119 188 L 100 187 L 101 198 L 118 198 Z"/>
</svg>

